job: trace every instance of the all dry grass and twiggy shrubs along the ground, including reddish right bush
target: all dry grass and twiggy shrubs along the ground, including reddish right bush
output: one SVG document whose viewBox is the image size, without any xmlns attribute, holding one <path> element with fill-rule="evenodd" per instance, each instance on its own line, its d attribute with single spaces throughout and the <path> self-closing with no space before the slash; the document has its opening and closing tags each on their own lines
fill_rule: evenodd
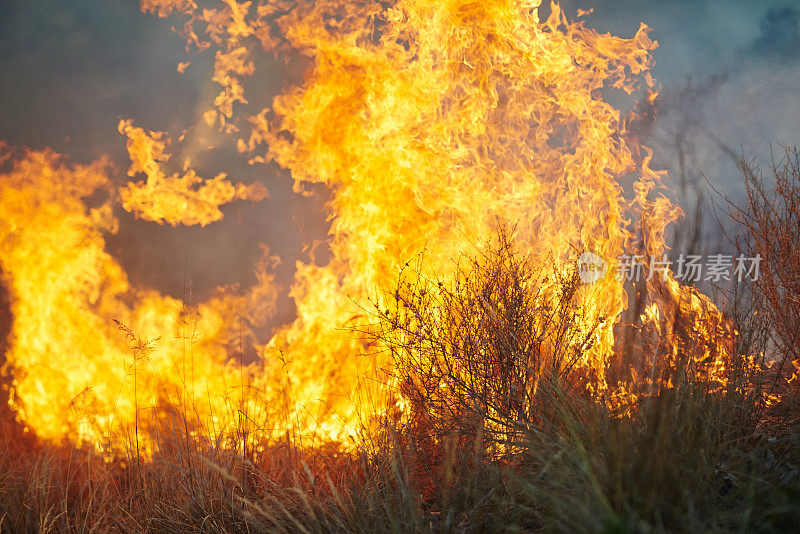
<svg viewBox="0 0 800 534">
<path fill-rule="evenodd" d="M 392 305 L 373 310 L 367 331 L 393 359 L 410 415 L 402 424 L 388 417 L 358 452 L 303 449 L 290 436 L 242 450 L 246 429 L 208 442 L 174 415 L 151 459 L 131 446 L 104 461 L 42 447 L 3 412 L 0 530 L 794 530 L 800 384 L 787 378 L 800 357 L 797 152 L 769 179 L 752 164 L 743 170 L 747 200 L 732 205 L 738 244 L 763 263 L 756 284 L 732 289 L 730 313 L 740 354 L 774 356 L 766 371 L 742 358 L 723 390 L 687 374 L 630 417 L 612 416 L 583 393 L 589 377 L 575 366 L 594 328 L 577 326 L 576 277 L 538 277 L 501 234 L 489 252 L 461 260 L 452 284 L 411 267 Z M 770 395 L 778 401 L 766 403 Z"/>
</svg>

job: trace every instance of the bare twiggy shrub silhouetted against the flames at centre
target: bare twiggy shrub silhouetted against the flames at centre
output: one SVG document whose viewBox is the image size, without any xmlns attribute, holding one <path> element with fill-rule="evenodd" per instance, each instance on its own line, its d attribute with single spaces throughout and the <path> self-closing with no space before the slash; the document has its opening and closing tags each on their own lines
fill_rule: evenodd
<svg viewBox="0 0 800 534">
<path fill-rule="evenodd" d="M 576 364 L 599 323 L 587 326 L 577 266 L 547 272 L 501 231 L 459 260 L 452 281 L 427 278 L 420 264 L 401 273 L 389 305 L 375 302 L 372 335 L 408 404 L 405 429 L 433 458 L 512 450 L 555 424 L 557 391 L 586 390 Z"/>
</svg>

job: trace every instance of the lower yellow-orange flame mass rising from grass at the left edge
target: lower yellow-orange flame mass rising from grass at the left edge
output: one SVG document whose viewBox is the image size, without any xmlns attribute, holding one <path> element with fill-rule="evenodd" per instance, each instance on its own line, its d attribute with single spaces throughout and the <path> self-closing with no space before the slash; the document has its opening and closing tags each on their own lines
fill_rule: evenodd
<svg viewBox="0 0 800 534">
<path fill-rule="evenodd" d="M 104 249 L 117 228 L 108 162 L 70 165 L 49 150 L 12 158 L 7 147 L 2 156 L 0 267 L 14 317 L 6 372 L 19 417 L 41 438 L 101 448 L 140 421 L 144 436 L 157 416 L 148 409 L 165 405 L 224 426 L 226 403 L 243 396 L 232 329 L 274 305 L 267 264 L 257 287 L 195 309 L 136 290 Z"/>
</svg>

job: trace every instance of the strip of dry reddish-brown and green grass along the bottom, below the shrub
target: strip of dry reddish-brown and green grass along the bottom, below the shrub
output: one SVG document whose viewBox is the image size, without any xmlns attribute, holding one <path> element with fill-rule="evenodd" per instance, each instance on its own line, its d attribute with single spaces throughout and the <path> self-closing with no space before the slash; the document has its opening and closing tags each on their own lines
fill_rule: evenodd
<svg viewBox="0 0 800 534">
<path fill-rule="evenodd" d="M 385 428 L 361 453 L 237 453 L 178 432 L 153 458 L 3 442 L 4 532 L 791 530 L 800 439 L 687 382 L 634 418 L 551 389 L 549 428 L 499 459 Z M 375 446 L 380 442 L 379 446 Z"/>
</svg>

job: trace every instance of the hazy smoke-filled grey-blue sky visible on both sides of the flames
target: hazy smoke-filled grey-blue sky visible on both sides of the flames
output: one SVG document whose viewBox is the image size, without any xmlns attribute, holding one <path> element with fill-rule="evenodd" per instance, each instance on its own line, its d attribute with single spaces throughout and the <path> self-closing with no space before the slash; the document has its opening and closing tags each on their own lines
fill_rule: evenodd
<svg viewBox="0 0 800 534">
<path fill-rule="evenodd" d="M 649 142 L 665 167 L 674 161 L 675 132 L 684 131 L 693 172 L 735 191 L 735 169 L 714 139 L 762 155 L 770 143 L 800 144 L 800 0 L 562 5 L 568 14 L 594 8 L 586 24 L 602 31 L 630 36 L 642 21 L 653 28 L 664 104 Z M 51 146 L 78 161 L 108 153 L 123 176 L 119 118 L 179 132 L 194 124 L 213 91 L 208 55 L 186 74 L 176 72 L 186 53 L 171 24 L 140 13 L 136 0 L 0 0 L 0 139 Z M 274 90 L 280 82 L 267 75 L 259 83 Z M 248 168 L 230 154 L 205 163 L 209 174 L 232 170 L 236 180 L 261 179 L 272 199 L 258 207 L 237 204 L 211 232 L 123 219 L 110 247 L 135 282 L 178 293 L 186 264 L 204 265 L 192 270 L 200 288 L 238 280 L 259 254 L 259 241 L 285 257 L 288 274 L 303 243 L 324 237 L 324 194 L 296 198 L 285 174 Z M 165 258 L 165 249 L 173 254 Z"/>
</svg>

